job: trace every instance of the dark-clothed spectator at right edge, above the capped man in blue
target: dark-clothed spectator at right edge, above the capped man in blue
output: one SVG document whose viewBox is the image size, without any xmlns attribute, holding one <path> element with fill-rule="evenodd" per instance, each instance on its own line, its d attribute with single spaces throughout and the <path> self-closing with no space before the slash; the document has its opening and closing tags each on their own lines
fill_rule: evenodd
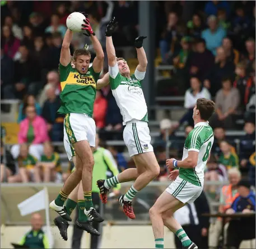
<svg viewBox="0 0 256 249">
<path fill-rule="evenodd" d="M 244 125 L 245 135 L 240 138 L 240 165 L 246 167 L 249 157 L 255 151 L 255 124 L 246 122 Z"/>
</svg>

